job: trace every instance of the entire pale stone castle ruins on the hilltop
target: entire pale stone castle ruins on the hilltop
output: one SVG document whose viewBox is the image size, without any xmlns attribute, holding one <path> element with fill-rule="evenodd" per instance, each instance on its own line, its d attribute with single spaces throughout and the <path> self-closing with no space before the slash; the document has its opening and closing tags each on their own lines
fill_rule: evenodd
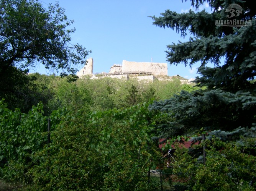
<svg viewBox="0 0 256 191">
<path fill-rule="evenodd" d="M 114 64 L 111 66 L 108 73 L 102 72 L 93 74 L 93 59 L 89 58 L 87 65 L 77 73 L 77 76 L 80 78 L 85 75 L 90 75 L 91 78 L 110 77 L 126 79 L 129 79 L 129 76 L 136 76 L 138 79 L 154 80 L 156 76 L 168 76 L 168 72 L 167 63 L 128 62 L 123 60 L 122 65 Z"/>
</svg>

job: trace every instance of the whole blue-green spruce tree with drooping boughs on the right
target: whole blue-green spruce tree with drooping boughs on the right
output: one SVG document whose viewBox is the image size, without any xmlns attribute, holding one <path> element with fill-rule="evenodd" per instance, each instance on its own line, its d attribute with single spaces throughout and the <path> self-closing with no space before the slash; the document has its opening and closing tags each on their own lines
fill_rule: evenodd
<svg viewBox="0 0 256 191">
<path fill-rule="evenodd" d="M 186 1 L 186 0 L 185 0 Z M 206 86 L 205 91 L 181 92 L 175 97 L 154 102 L 151 110 L 167 112 L 174 120 L 164 124 L 166 136 L 176 133 L 221 130 L 236 131 L 238 128 L 251 129 L 250 136 L 256 134 L 256 8 L 251 1 L 241 0 L 192 0 L 192 6 L 208 3 L 212 12 L 205 10 L 176 13 L 166 10 L 160 17 L 153 16 L 153 24 L 176 29 L 188 42 L 168 45 L 167 60 L 171 65 L 192 66 L 200 62 L 196 78 L 198 86 Z M 236 3 L 243 8 L 235 19 L 248 21 L 251 26 L 216 26 L 215 20 L 228 20 L 228 7 Z M 232 8 L 236 10 L 236 8 Z M 233 18 L 232 18 L 233 19 Z M 221 63 L 222 58 L 225 59 Z M 213 63 L 214 67 L 207 67 Z M 253 130 L 254 129 L 254 130 Z M 242 132 L 242 131 L 240 131 Z M 243 131 L 243 133 L 245 133 Z M 231 135 L 231 134 L 230 134 Z"/>
</svg>

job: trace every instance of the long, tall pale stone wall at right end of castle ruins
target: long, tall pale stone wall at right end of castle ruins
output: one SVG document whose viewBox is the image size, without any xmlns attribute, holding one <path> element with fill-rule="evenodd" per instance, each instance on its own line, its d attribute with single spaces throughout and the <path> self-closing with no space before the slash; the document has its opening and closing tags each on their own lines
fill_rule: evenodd
<svg viewBox="0 0 256 191">
<path fill-rule="evenodd" d="M 122 64 L 123 72 L 128 71 L 145 71 L 151 72 L 157 76 L 167 76 L 167 63 L 151 63 L 151 62 L 129 62 L 123 60 Z"/>
</svg>

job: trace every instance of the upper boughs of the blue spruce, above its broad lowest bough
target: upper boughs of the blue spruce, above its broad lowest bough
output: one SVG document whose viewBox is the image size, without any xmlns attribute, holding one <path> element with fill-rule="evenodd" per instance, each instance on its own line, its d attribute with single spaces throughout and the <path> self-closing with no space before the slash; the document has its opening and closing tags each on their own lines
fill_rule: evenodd
<svg viewBox="0 0 256 191">
<path fill-rule="evenodd" d="M 201 76 L 196 81 L 201 86 L 232 92 L 245 89 L 254 92 L 255 84 L 249 80 L 256 76 L 256 9 L 251 6 L 251 1 L 240 0 L 192 0 L 192 5 L 198 10 L 205 2 L 209 3 L 211 13 L 205 10 L 190 10 L 188 13 L 166 10 L 161 13 L 162 16 L 152 17 L 156 26 L 176 29 L 182 37 L 187 36 L 188 31 L 192 35 L 187 42 L 168 45 L 167 60 L 171 65 L 183 63 L 185 66 L 200 62 L 198 71 Z M 231 3 L 243 8 L 243 14 L 235 19 L 251 19 L 251 26 L 215 26 L 215 20 L 229 19 L 227 14 L 230 13 L 226 12 L 226 8 Z M 225 59 L 224 63 L 221 63 L 222 58 Z M 213 63 L 215 67 L 209 68 L 207 63 Z"/>
</svg>

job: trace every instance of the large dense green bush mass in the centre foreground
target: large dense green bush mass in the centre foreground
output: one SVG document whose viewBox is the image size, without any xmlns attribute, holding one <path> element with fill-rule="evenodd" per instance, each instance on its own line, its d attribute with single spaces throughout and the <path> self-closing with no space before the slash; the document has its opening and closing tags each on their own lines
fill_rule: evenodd
<svg viewBox="0 0 256 191">
<path fill-rule="evenodd" d="M 28 173 L 31 188 L 148 188 L 147 172 L 159 151 L 148 136 L 147 107 L 66 115 L 52 133 L 51 146 L 34 156 L 39 165 Z M 49 176 L 44 176 L 46 167 Z"/>
</svg>

